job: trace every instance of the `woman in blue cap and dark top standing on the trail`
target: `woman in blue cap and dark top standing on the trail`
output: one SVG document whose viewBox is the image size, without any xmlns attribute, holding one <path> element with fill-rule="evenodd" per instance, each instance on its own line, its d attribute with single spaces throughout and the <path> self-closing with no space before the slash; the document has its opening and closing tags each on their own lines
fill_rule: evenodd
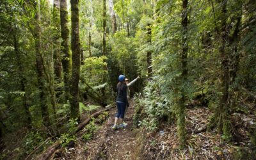
<svg viewBox="0 0 256 160">
<path fill-rule="evenodd" d="M 118 112 L 116 113 L 115 116 L 115 124 L 113 126 L 113 129 L 118 129 L 124 127 L 123 121 L 124 121 L 124 112 L 126 106 L 129 107 L 129 102 L 127 100 L 127 85 L 125 83 L 125 76 L 120 75 L 118 77 L 118 84 L 116 86 L 116 92 L 117 92 L 117 97 L 116 97 L 116 106 L 118 109 Z M 117 125 L 117 121 L 120 119 L 120 125 Z"/>
</svg>

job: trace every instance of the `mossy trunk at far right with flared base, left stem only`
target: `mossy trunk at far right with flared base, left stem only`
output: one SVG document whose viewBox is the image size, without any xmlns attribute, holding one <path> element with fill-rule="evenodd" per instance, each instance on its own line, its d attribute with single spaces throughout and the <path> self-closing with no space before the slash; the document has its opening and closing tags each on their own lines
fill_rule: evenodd
<svg viewBox="0 0 256 160">
<path fill-rule="evenodd" d="M 214 22 L 216 27 L 216 36 L 220 38 L 220 101 L 217 108 L 214 111 L 214 116 L 210 125 L 216 125 L 218 132 L 223 132 L 225 138 L 231 138 L 231 122 L 230 115 L 228 113 L 230 94 L 228 92 L 230 88 L 230 52 L 227 51 L 228 46 L 228 31 L 227 31 L 227 1 L 218 0 L 216 1 L 218 5 L 218 17 L 215 17 Z M 214 3 L 212 3 L 212 10 L 214 10 Z M 218 19 L 216 19 L 218 18 Z M 215 20 L 216 19 L 216 20 Z M 216 22 L 220 22 L 217 24 Z"/>
</svg>

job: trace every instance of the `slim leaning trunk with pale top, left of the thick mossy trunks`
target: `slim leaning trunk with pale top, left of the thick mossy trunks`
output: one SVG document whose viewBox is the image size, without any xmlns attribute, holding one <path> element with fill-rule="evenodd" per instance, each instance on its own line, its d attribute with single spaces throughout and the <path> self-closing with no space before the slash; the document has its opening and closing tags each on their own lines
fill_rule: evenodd
<svg viewBox="0 0 256 160">
<path fill-rule="evenodd" d="M 40 0 L 36 4 L 36 26 L 35 26 L 35 48 L 36 48 L 36 69 L 38 74 L 38 88 L 40 90 L 40 105 L 43 118 L 43 124 L 46 127 L 51 126 L 49 111 L 47 108 L 47 86 L 45 84 L 44 60 L 42 56 L 42 37 L 41 37 L 41 17 L 40 17 Z"/>
</svg>

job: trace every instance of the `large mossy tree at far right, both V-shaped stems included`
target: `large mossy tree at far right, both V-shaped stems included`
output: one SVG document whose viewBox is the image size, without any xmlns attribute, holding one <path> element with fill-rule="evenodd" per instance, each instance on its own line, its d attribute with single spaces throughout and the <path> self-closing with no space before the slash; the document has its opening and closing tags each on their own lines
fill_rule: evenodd
<svg viewBox="0 0 256 160">
<path fill-rule="evenodd" d="M 212 3 L 212 9 L 214 10 L 214 4 Z M 233 99 L 232 93 L 230 93 L 230 86 L 234 83 L 236 79 L 236 74 L 239 66 L 239 52 L 237 51 L 237 46 L 239 44 L 239 26 L 241 24 L 241 13 L 242 4 L 241 1 L 236 1 L 236 14 L 234 17 L 228 15 L 226 0 L 216 1 L 218 5 L 218 17 L 216 22 L 220 24 L 216 25 L 216 36 L 220 38 L 220 47 L 218 51 L 220 52 L 221 61 L 221 72 L 220 72 L 220 102 L 218 108 L 215 111 L 215 123 L 217 124 L 218 131 L 223 132 L 227 139 L 232 136 L 230 113 L 228 109 L 231 107 L 230 102 Z M 228 24 L 228 17 L 234 19 L 234 25 Z M 233 31 L 232 31 L 233 30 Z M 235 89 L 237 90 L 237 88 Z"/>
</svg>

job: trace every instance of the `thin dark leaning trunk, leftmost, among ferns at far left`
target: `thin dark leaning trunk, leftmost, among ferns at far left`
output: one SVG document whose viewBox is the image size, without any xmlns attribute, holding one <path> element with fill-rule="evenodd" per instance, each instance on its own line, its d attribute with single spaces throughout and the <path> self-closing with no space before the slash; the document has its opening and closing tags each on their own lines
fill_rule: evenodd
<svg viewBox="0 0 256 160">
<path fill-rule="evenodd" d="M 14 33 L 16 34 L 16 33 Z M 31 113 L 29 111 L 29 106 L 27 103 L 27 93 L 25 90 L 25 83 L 26 83 L 26 79 L 24 77 L 24 66 L 22 65 L 21 62 L 21 56 L 20 56 L 20 52 L 19 52 L 19 41 L 17 40 L 17 36 L 13 35 L 13 43 L 14 43 L 14 49 L 15 49 L 15 54 L 16 54 L 16 58 L 17 58 L 17 66 L 18 66 L 18 70 L 19 70 L 19 79 L 20 79 L 20 91 L 24 92 L 24 95 L 22 96 L 22 106 L 24 107 L 24 111 L 25 111 L 25 124 L 27 125 L 27 127 L 29 129 L 31 129 L 32 127 L 32 120 L 31 120 Z"/>
</svg>

